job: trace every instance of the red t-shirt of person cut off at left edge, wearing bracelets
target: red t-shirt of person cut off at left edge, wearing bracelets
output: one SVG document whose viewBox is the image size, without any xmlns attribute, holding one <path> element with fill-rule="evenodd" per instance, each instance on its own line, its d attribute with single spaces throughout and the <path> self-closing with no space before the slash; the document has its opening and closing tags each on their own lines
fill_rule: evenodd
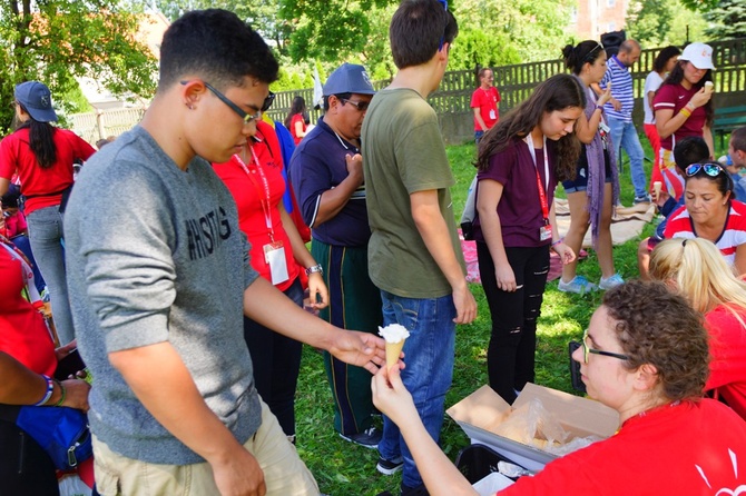
<svg viewBox="0 0 746 496">
<path fill-rule="evenodd" d="M 55 374 L 55 344 L 43 317 L 22 296 L 21 261 L 0 242 L 0 351 L 37 374 Z"/>
</svg>

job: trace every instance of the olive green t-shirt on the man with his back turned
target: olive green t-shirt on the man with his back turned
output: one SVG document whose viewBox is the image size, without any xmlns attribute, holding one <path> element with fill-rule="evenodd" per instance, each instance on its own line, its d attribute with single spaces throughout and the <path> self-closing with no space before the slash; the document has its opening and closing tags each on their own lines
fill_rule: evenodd
<svg viewBox="0 0 746 496">
<path fill-rule="evenodd" d="M 435 190 L 453 251 L 465 276 L 449 187 L 454 179 L 438 116 L 414 90 L 373 97 L 362 130 L 371 240 L 367 266 L 380 289 L 406 298 L 439 298 L 451 285 L 430 255 L 414 219 L 410 195 Z"/>
</svg>

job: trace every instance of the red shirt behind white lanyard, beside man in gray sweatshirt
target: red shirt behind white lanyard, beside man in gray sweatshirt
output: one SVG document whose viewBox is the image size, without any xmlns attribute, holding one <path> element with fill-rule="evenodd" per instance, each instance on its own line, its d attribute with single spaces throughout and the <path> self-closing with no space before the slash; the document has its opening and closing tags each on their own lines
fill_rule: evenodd
<svg viewBox="0 0 746 496">
<path fill-rule="evenodd" d="M 215 172 L 218 175 L 225 186 L 228 187 L 230 195 L 236 200 L 238 207 L 238 227 L 241 228 L 248 241 L 251 242 L 252 267 L 262 275 L 265 279 L 272 281 L 269 266 L 264 257 L 264 246 L 271 242 L 269 229 L 267 229 L 267 221 L 265 210 L 262 204 L 269 206 L 268 209 L 272 228 L 274 230 L 274 238 L 276 241 L 282 241 L 285 249 L 285 262 L 287 264 L 288 279 L 278 284 L 276 287 L 281 291 L 287 289 L 300 275 L 298 266 L 293 258 L 293 247 L 291 240 L 285 232 L 282 219 L 279 217 L 279 202 L 283 199 L 283 194 L 287 185 L 282 175 L 282 155 L 279 152 L 279 143 L 277 135 L 274 129 L 266 122 L 257 122 L 256 137 L 261 142 L 254 142 L 253 149 L 256 158 L 259 161 L 262 170 L 251 159 L 251 152 L 247 153 L 247 162 L 245 163 L 249 175 L 246 173 L 238 160 L 238 157 L 233 158 L 225 163 L 215 163 Z M 266 190 L 262 172 L 267 180 L 269 188 L 269 201 L 267 204 Z"/>
</svg>

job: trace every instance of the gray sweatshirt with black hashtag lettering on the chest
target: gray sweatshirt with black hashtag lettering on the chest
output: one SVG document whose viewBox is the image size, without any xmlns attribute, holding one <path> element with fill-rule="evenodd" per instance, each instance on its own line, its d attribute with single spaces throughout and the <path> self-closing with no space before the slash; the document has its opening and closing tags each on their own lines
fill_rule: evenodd
<svg viewBox="0 0 746 496">
<path fill-rule="evenodd" d="M 76 337 L 94 376 L 94 434 L 129 458 L 204 462 L 145 409 L 107 357 L 168 341 L 207 406 L 246 442 L 261 424 L 243 337 L 243 294 L 257 274 L 210 165 L 195 158 L 183 171 L 135 128 L 84 167 L 65 241 Z M 158 380 L 158 369 L 148 374 Z"/>
</svg>

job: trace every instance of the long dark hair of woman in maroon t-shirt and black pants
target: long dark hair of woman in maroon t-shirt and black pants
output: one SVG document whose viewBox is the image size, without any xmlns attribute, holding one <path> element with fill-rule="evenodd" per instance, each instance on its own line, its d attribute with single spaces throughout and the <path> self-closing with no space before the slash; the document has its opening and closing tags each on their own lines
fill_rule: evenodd
<svg viewBox="0 0 746 496">
<path fill-rule="evenodd" d="M 585 109 L 586 95 L 578 80 L 570 75 L 556 75 L 540 83 L 531 96 L 516 107 L 480 140 L 477 168 L 487 170 L 490 157 L 503 150 L 511 140 L 526 137 L 536 128 L 546 112 L 568 107 Z M 544 153 L 547 151 L 544 150 Z M 554 173 L 560 180 L 572 179 L 580 156 L 580 141 L 575 131 L 557 141 Z"/>
</svg>

